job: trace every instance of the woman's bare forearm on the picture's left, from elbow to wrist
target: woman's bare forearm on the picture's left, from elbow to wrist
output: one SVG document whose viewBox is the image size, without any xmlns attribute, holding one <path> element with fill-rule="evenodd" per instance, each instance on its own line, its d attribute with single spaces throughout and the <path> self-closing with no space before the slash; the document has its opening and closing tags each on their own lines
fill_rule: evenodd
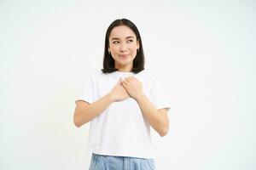
<svg viewBox="0 0 256 170">
<path fill-rule="evenodd" d="M 87 122 L 90 122 L 94 117 L 102 114 L 109 105 L 113 102 L 111 94 L 106 94 L 101 99 L 89 105 L 89 107 L 78 111 L 75 116 L 75 122 L 77 127 L 81 127 Z"/>
</svg>

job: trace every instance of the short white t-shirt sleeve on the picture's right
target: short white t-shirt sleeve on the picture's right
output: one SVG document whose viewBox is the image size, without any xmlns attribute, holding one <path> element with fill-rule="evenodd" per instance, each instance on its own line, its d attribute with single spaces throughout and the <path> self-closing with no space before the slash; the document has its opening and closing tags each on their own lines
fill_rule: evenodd
<svg viewBox="0 0 256 170">
<path fill-rule="evenodd" d="M 150 101 L 157 110 L 166 108 L 166 111 L 169 111 L 171 109 L 165 91 L 158 81 L 154 81 L 150 93 Z"/>
</svg>

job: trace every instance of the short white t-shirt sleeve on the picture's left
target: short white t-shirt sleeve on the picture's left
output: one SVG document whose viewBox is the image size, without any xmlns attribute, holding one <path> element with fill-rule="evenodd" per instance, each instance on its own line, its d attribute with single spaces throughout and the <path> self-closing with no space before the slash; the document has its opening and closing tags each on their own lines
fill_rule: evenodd
<svg viewBox="0 0 256 170">
<path fill-rule="evenodd" d="M 93 81 L 90 75 L 84 78 L 82 88 L 80 88 L 79 94 L 75 101 L 83 100 L 91 104 L 93 102 Z"/>
</svg>

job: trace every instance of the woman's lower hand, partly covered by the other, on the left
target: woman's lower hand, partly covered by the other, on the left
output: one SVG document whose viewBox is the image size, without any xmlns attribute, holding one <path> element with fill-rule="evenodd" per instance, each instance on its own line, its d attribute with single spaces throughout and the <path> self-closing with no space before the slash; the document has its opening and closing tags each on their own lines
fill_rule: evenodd
<svg viewBox="0 0 256 170">
<path fill-rule="evenodd" d="M 130 97 L 121 82 L 122 78 L 119 78 L 119 82 L 112 88 L 112 91 L 110 92 L 113 101 L 122 101 Z"/>
</svg>

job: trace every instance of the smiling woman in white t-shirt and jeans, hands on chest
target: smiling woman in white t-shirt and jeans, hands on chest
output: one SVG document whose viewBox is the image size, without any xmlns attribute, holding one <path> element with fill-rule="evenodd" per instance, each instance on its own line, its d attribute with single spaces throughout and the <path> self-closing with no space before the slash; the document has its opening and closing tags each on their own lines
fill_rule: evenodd
<svg viewBox="0 0 256 170">
<path fill-rule="evenodd" d="M 90 122 L 90 170 L 155 169 L 150 126 L 165 136 L 170 109 L 160 83 L 144 70 L 143 43 L 131 20 L 108 27 L 102 71 L 76 99 L 74 123 Z"/>
</svg>

